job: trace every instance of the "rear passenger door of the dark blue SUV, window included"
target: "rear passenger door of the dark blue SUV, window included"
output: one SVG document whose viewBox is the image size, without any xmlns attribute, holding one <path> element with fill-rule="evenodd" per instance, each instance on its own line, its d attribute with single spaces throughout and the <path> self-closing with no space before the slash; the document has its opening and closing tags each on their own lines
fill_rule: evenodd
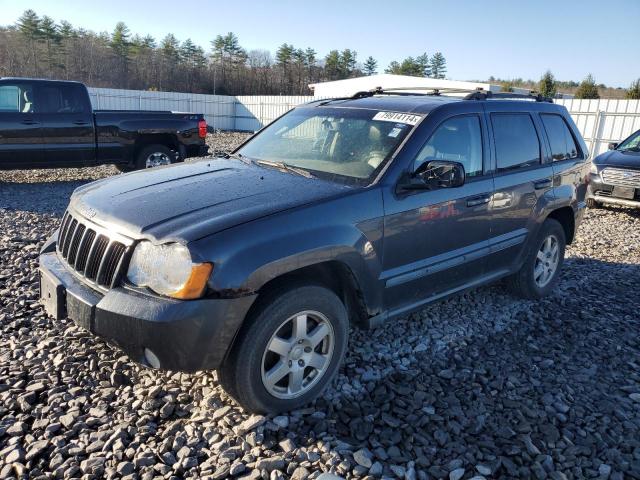
<svg viewBox="0 0 640 480">
<path fill-rule="evenodd" d="M 486 102 L 493 141 L 495 193 L 489 204 L 491 268 L 518 265 L 535 234 L 539 212 L 553 203 L 553 169 L 546 158 L 537 114 L 513 111 L 513 103 Z"/>
</svg>

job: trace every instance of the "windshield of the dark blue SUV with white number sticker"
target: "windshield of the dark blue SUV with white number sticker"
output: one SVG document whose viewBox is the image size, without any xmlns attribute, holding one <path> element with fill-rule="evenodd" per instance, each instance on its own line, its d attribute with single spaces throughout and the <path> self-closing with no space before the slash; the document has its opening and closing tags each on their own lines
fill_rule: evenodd
<svg viewBox="0 0 640 480">
<path fill-rule="evenodd" d="M 368 184 L 420 118 L 376 110 L 302 107 L 273 122 L 237 153 L 332 181 Z"/>
</svg>

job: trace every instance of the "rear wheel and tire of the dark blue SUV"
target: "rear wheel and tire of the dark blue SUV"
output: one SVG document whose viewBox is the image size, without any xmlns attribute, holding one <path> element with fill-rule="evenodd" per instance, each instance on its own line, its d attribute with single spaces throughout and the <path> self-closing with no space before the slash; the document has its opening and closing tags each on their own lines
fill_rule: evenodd
<svg viewBox="0 0 640 480">
<path fill-rule="evenodd" d="M 549 243 L 557 246 L 554 255 L 547 256 L 543 249 L 549 248 Z M 528 252 L 525 261 L 518 272 L 507 277 L 507 288 L 520 297 L 537 300 L 548 295 L 558 283 L 560 271 L 564 262 L 566 238 L 562 225 L 557 220 L 547 218 Z M 551 248 L 553 252 L 553 248 Z M 540 253 L 540 257 L 539 254 Z M 555 265 L 555 267 L 554 267 Z M 552 272 L 550 270 L 552 269 Z M 540 274 L 540 272 L 544 272 Z M 548 275 L 546 275 L 548 273 Z"/>
</svg>

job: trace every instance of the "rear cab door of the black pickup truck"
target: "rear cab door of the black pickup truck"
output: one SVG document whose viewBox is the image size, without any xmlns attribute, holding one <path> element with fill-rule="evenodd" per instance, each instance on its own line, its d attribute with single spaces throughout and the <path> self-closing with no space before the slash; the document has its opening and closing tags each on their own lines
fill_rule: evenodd
<svg viewBox="0 0 640 480">
<path fill-rule="evenodd" d="M 42 82 L 36 94 L 47 166 L 95 164 L 93 113 L 86 88 L 79 83 Z"/>
</svg>

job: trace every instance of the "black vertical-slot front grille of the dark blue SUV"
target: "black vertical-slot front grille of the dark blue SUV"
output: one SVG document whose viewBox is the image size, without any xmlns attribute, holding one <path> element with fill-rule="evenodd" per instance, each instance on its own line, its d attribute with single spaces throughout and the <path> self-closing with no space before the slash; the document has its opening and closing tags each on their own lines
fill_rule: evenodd
<svg viewBox="0 0 640 480">
<path fill-rule="evenodd" d="M 57 250 L 72 270 L 104 290 L 120 281 L 131 243 L 67 211 L 60 224 Z"/>
</svg>

